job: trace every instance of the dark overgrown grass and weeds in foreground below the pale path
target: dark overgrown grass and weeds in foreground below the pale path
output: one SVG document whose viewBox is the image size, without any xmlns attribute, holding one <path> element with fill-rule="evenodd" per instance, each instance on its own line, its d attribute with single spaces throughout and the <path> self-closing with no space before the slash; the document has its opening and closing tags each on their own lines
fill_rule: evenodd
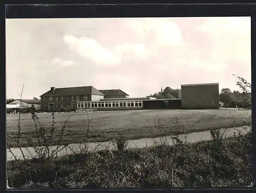
<svg viewBox="0 0 256 193">
<path fill-rule="evenodd" d="M 119 141 L 120 143 L 120 141 Z M 122 142 L 121 142 L 122 143 Z M 122 143 L 124 144 L 124 143 Z M 251 133 L 227 139 L 144 149 L 108 149 L 50 160 L 32 159 L 21 170 L 7 163 L 10 187 L 241 187 L 252 182 Z"/>
</svg>

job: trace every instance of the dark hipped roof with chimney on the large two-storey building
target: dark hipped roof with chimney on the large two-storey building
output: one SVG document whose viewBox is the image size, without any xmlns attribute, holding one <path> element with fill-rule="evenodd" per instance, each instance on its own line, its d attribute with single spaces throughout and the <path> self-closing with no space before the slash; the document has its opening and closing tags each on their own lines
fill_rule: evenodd
<svg viewBox="0 0 256 193">
<path fill-rule="evenodd" d="M 49 90 L 48 92 L 40 95 L 40 97 L 42 97 L 42 96 L 84 95 L 84 94 L 104 95 L 102 92 L 100 92 L 93 86 L 80 86 L 80 87 L 56 88 L 54 90 L 54 92 Z"/>
</svg>

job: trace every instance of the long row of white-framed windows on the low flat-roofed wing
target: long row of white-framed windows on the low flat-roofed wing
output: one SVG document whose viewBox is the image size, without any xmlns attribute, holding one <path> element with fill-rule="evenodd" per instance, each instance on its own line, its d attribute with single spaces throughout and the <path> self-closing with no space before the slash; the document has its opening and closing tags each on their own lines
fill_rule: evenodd
<svg viewBox="0 0 256 193">
<path fill-rule="evenodd" d="M 77 108 L 99 108 L 99 107 L 142 107 L 142 101 L 122 102 L 78 102 Z"/>
</svg>

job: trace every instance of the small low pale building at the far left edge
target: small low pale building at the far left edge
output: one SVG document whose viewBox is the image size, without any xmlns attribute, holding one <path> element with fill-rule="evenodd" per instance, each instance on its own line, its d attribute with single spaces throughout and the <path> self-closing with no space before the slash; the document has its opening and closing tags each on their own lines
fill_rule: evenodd
<svg viewBox="0 0 256 193">
<path fill-rule="evenodd" d="M 6 108 L 35 108 L 35 110 L 40 110 L 41 101 L 36 99 L 16 99 L 8 103 Z"/>
</svg>

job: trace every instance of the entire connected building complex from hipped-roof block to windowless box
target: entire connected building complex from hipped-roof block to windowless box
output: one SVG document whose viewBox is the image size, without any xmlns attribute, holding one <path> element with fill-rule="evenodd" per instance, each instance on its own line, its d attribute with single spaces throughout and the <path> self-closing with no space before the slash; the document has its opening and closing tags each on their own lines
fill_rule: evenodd
<svg viewBox="0 0 256 193">
<path fill-rule="evenodd" d="M 163 92 L 161 88 L 161 93 Z M 182 95 L 182 96 L 181 96 Z M 129 98 L 120 89 L 55 88 L 42 94 L 41 110 L 219 109 L 219 83 L 181 85 L 178 99 Z"/>
</svg>

